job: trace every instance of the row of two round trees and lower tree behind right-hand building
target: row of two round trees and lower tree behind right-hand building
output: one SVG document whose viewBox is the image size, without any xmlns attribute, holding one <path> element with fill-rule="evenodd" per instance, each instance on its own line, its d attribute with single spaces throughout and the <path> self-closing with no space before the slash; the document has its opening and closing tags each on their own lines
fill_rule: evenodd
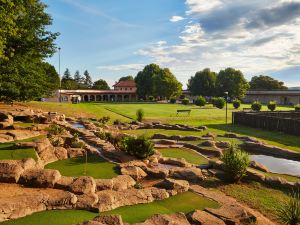
<svg viewBox="0 0 300 225">
<path fill-rule="evenodd" d="M 248 82 L 240 70 L 227 68 L 219 73 L 204 69 L 192 76 L 188 81 L 188 90 L 193 95 L 224 96 L 228 92 L 230 98 L 241 99 L 247 90 L 285 90 L 283 82 L 269 76 L 254 76 Z"/>
</svg>

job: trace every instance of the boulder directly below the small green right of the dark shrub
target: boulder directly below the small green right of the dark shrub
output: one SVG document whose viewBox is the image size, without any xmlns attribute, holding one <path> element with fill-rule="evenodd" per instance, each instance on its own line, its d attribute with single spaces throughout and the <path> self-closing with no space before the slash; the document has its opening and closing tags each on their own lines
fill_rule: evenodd
<svg viewBox="0 0 300 225">
<path fill-rule="evenodd" d="M 170 177 L 174 179 L 187 180 L 192 183 L 197 183 L 204 179 L 201 169 L 196 167 L 173 168 L 170 170 Z"/>
</svg>

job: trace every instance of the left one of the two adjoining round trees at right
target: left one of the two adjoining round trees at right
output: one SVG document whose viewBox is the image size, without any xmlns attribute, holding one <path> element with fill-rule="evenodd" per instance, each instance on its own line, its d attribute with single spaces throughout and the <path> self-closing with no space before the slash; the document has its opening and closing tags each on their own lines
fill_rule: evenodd
<svg viewBox="0 0 300 225">
<path fill-rule="evenodd" d="M 210 69 L 204 69 L 192 76 L 188 81 L 188 90 L 193 95 L 214 96 L 217 75 Z"/>
</svg>

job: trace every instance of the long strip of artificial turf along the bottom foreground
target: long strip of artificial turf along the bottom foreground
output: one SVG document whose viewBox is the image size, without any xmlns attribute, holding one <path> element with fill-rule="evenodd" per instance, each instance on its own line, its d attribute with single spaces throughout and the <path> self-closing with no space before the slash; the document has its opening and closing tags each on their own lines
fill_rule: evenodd
<svg viewBox="0 0 300 225">
<path fill-rule="evenodd" d="M 171 214 L 176 212 L 188 213 L 195 209 L 217 208 L 218 203 L 204 198 L 193 192 L 186 192 L 168 199 L 155 201 L 148 204 L 138 204 L 124 206 L 118 209 L 100 213 L 100 215 L 122 216 L 124 222 L 138 223 L 143 222 L 154 214 Z M 1 223 L 3 225 L 71 225 L 90 220 L 99 214 L 82 210 L 52 210 L 34 213 L 24 218 Z"/>
</svg>

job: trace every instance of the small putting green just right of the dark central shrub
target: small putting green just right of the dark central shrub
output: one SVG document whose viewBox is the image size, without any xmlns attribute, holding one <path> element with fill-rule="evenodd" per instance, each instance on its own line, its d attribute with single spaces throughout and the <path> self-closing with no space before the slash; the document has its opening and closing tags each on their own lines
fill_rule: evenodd
<svg viewBox="0 0 300 225">
<path fill-rule="evenodd" d="M 187 162 L 193 164 L 207 164 L 208 160 L 199 153 L 186 148 L 162 148 L 157 149 L 164 157 L 184 158 Z"/>
</svg>

